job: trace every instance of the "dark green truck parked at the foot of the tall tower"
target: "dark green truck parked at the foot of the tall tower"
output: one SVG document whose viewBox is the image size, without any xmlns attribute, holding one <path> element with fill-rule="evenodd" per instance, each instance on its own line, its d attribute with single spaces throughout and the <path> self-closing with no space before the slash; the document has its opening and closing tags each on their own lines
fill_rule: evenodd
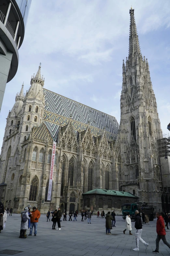
<svg viewBox="0 0 170 256">
<path fill-rule="evenodd" d="M 152 221 L 155 218 L 154 207 L 148 205 L 145 202 L 135 202 L 132 204 L 123 204 L 122 205 L 122 217 L 126 219 L 126 215 L 130 214 L 130 218 L 135 220 L 135 211 L 138 210 L 139 213 L 145 213 L 149 217 L 149 221 Z"/>
</svg>

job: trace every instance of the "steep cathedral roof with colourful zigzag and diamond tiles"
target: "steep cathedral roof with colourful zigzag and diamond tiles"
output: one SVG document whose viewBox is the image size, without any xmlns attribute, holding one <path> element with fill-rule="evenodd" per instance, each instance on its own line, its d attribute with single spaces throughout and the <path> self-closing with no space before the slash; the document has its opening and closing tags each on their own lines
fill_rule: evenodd
<svg viewBox="0 0 170 256">
<path fill-rule="evenodd" d="M 59 125 L 67 125 L 70 120 L 74 130 L 83 131 L 90 122 L 92 135 L 99 136 L 105 127 L 108 140 L 115 140 L 119 124 L 115 117 L 98 111 L 77 101 L 66 98 L 60 94 L 44 89 L 45 111 L 44 122 L 50 131 L 53 140 L 56 140 Z"/>
</svg>

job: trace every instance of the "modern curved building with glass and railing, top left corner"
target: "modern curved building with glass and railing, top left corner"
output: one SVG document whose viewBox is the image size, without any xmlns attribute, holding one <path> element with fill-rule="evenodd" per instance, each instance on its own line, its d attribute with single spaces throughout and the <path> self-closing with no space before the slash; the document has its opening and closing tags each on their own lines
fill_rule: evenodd
<svg viewBox="0 0 170 256">
<path fill-rule="evenodd" d="M 31 0 L 0 0 L 0 111 L 7 82 L 16 74 Z"/>
</svg>

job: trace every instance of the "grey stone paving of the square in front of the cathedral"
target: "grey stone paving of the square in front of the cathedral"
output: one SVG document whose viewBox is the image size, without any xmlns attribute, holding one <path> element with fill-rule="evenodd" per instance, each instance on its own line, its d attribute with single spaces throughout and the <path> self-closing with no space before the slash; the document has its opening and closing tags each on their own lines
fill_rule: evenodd
<svg viewBox="0 0 170 256">
<path fill-rule="evenodd" d="M 68 216 L 68 215 L 67 215 Z M 50 218 L 51 219 L 51 218 Z M 112 235 L 105 233 L 105 219 L 98 219 L 96 215 L 92 216 L 92 224 L 87 220 L 81 222 L 81 216 L 78 215 L 76 221 L 61 222 L 61 230 L 52 230 L 52 222 L 47 223 L 46 214 L 41 214 L 38 222 L 37 235 L 28 236 L 26 239 L 20 239 L 21 215 L 12 214 L 7 216 L 6 228 L 0 234 L 0 256 L 3 250 L 21 251 L 15 255 L 27 253 L 30 256 L 117 256 L 117 255 L 154 255 L 156 239 L 156 219 L 150 224 L 143 226 L 142 238 L 149 243 L 145 250 L 144 245 L 139 242 L 139 251 L 133 251 L 135 248 L 135 222 L 132 221 L 132 233 L 123 231 L 125 221 L 121 216 L 116 216 L 116 228 L 111 230 Z M 56 224 L 57 225 L 57 224 Z M 57 227 L 56 227 L 57 228 Z M 27 230 L 27 235 L 29 230 Z M 170 230 L 166 230 L 166 239 L 170 243 Z M 160 241 L 160 255 L 169 255 L 170 250 Z"/>
</svg>

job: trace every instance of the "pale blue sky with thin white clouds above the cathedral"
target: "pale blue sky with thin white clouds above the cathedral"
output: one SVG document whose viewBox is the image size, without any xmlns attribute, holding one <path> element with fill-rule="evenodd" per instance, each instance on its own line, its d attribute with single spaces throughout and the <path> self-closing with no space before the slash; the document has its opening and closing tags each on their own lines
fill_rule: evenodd
<svg viewBox="0 0 170 256">
<path fill-rule="evenodd" d="M 41 62 L 44 87 L 116 117 L 120 122 L 122 60 L 128 56 L 130 7 L 142 55 L 148 58 L 161 127 L 170 122 L 169 0 L 32 0 L 16 76 L 0 113 L 2 145 L 8 111 Z"/>
</svg>

